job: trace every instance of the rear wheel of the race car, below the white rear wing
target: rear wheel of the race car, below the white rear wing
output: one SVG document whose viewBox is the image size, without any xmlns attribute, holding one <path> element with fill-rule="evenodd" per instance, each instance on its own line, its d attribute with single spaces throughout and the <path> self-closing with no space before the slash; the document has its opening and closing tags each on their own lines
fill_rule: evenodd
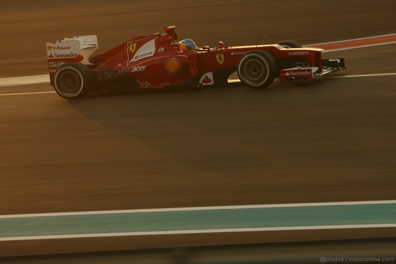
<svg viewBox="0 0 396 264">
<path fill-rule="evenodd" d="M 63 64 L 55 71 L 53 80 L 57 94 L 69 100 L 84 98 L 93 86 L 91 71 L 79 62 Z"/>
</svg>

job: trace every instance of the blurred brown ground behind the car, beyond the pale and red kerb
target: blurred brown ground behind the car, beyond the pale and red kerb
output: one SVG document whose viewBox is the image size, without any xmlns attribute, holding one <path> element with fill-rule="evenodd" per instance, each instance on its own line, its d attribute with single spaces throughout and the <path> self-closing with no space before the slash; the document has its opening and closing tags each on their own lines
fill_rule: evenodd
<svg viewBox="0 0 396 264">
<path fill-rule="evenodd" d="M 45 43 L 97 35 L 97 53 L 139 34 L 177 26 L 181 40 L 198 46 L 242 46 L 291 39 L 302 45 L 394 32 L 394 3 L 327 1 L 109 1 L 2 3 L 0 77 L 47 73 Z M 314 9 L 314 10 L 313 10 Z"/>
</svg>

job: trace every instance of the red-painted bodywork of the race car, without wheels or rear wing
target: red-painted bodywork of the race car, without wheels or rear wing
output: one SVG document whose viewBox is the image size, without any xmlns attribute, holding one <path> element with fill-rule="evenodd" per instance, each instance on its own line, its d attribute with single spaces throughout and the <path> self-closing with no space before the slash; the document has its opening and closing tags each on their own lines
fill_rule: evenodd
<svg viewBox="0 0 396 264">
<path fill-rule="evenodd" d="M 322 73 L 321 49 L 286 49 L 273 44 L 231 48 L 219 46 L 215 49 L 204 48 L 199 52 L 179 51 L 179 44 L 175 42 L 177 34 L 174 27 L 167 29 L 168 32 L 163 35 L 139 35 L 95 57 L 95 61 L 104 61 L 93 71 L 126 71 L 131 79 L 136 80 L 137 86 L 153 88 L 177 84 L 205 85 L 208 76 L 201 82 L 200 78 L 212 72 L 213 84 L 216 84 L 227 82 L 227 77 L 236 71 L 242 55 L 252 50 L 263 50 L 276 59 L 279 71 L 295 67 L 317 67 L 316 73 Z M 312 69 L 310 72 L 312 73 Z M 286 76 L 282 75 L 282 72 L 280 77 L 281 81 L 286 81 Z M 314 77 L 311 74 L 303 75 L 301 78 Z"/>
</svg>

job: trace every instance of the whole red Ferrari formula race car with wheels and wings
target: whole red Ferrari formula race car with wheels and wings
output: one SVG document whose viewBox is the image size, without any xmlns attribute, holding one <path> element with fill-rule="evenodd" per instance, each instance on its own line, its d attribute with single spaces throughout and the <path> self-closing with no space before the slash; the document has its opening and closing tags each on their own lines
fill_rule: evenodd
<svg viewBox="0 0 396 264">
<path fill-rule="evenodd" d="M 345 69 L 343 58 L 322 59 L 321 49 L 302 48 L 285 40 L 278 44 L 197 48 L 190 40 L 176 42 L 175 27 L 166 34 L 139 35 L 93 57 L 96 36 L 75 36 L 47 42 L 51 85 L 63 98 L 120 88 L 224 85 L 238 72 L 243 84 L 264 88 L 281 82 L 311 80 Z"/>
</svg>

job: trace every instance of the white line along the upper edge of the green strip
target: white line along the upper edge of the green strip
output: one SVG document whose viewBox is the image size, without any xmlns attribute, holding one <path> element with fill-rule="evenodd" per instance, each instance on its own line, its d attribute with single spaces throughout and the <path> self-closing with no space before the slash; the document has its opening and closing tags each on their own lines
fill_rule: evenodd
<svg viewBox="0 0 396 264">
<path fill-rule="evenodd" d="M 389 204 L 389 203 L 396 203 L 396 200 L 331 202 L 331 203 L 285 203 L 285 204 L 275 204 L 275 205 L 230 205 L 230 206 L 209 206 L 209 207 L 177 207 L 177 208 L 107 210 L 107 211 L 86 211 L 86 212 L 58 212 L 58 213 L 43 213 L 43 214 L 8 214 L 8 215 L 0 215 L 0 219 L 1 218 L 21 218 L 21 217 L 87 215 L 87 214 L 124 214 L 124 213 L 137 213 L 137 212 L 175 212 L 175 211 L 194 211 L 194 210 L 309 207 L 309 206 L 331 206 L 331 205 L 379 205 L 379 204 Z"/>
</svg>

